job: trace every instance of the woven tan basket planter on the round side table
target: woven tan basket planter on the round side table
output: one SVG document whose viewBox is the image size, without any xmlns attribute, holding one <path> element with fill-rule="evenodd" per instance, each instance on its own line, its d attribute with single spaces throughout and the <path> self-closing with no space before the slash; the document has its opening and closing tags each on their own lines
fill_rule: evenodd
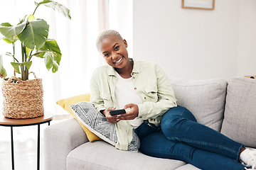
<svg viewBox="0 0 256 170">
<path fill-rule="evenodd" d="M 36 75 L 34 74 L 35 78 Z M 2 83 L 3 115 L 6 118 L 26 119 L 43 115 L 42 79 L 23 81 L 17 77 Z"/>
</svg>

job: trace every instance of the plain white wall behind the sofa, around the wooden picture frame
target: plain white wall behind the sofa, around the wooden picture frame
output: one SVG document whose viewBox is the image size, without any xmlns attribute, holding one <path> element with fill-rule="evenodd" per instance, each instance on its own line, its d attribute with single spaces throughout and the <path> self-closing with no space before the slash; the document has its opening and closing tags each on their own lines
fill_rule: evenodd
<svg viewBox="0 0 256 170">
<path fill-rule="evenodd" d="M 135 0 L 134 58 L 176 78 L 256 74 L 255 7 L 255 0 L 215 0 L 213 11 L 181 8 L 181 0 Z"/>
</svg>

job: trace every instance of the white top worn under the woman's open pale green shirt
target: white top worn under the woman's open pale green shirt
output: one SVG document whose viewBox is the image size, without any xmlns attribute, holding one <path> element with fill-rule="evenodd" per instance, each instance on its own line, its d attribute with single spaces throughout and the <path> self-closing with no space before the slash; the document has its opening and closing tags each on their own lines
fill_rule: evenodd
<svg viewBox="0 0 256 170">
<path fill-rule="evenodd" d="M 114 89 L 114 96 L 116 98 L 119 108 L 124 108 L 124 106 L 129 103 L 142 104 L 142 98 L 137 94 L 136 90 L 134 89 L 132 77 L 124 79 L 117 72 L 114 72 L 114 75 L 117 77 L 117 84 Z M 142 122 L 143 120 L 141 118 L 129 120 L 129 123 L 133 126 L 134 129 L 138 128 L 139 125 L 142 124 Z"/>
</svg>

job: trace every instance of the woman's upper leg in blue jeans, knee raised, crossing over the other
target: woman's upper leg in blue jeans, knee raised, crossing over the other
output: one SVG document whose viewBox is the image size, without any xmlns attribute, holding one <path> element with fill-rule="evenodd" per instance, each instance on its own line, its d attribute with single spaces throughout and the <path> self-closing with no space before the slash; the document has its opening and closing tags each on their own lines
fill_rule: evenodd
<svg viewBox="0 0 256 170">
<path fill-rule="evenodd" d="M 206 125 L 196 123 L 193 114 L 181 106 L 171 108 L 164 114 L 161 120 L 161 130 L 171 141 L 183 142 L 237 161 L 239 159 L 242 144 Z"/>
</svg>

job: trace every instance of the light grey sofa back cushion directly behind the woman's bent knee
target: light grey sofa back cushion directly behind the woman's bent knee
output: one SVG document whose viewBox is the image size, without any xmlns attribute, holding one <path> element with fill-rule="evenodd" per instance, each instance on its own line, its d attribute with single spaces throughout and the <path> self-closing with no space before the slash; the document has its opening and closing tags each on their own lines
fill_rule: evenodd
<svg viewBox="0 0 256 170">
<path fill-rule="evenodd" d="M 171 79 L 178 106 L 188 108 L 198 123 L 220 132 L 227 81 Z"/>
</svg>

